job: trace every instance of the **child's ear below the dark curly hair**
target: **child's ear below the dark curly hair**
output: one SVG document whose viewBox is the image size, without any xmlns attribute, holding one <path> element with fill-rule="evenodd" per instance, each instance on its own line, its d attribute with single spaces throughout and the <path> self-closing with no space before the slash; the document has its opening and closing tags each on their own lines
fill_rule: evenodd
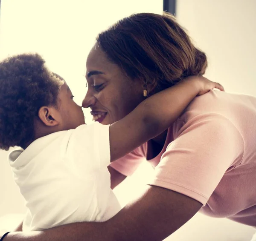
<svg viewBox="0 0 256 241">
<path fill-rule="evenodd" d="M 42 106 L 38 117 L 46 126 L 58 126 L 60 123 L 60 114 L 53 106 Z"/>
</svg>

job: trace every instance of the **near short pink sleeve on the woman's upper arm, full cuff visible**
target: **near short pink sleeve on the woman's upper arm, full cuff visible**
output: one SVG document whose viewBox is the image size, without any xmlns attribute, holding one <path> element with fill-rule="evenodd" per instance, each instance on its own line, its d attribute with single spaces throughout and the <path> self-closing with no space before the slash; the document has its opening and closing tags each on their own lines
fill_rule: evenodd
<svg viewBox="0 0 256 241">
<path fill-rule="evenodd" d="M 174 134 L 149 184 L 205 205 L 227 169 L 241 163 L 243 138 L 230 120 L 216 114 L 196 116 Z"/>
</svg>

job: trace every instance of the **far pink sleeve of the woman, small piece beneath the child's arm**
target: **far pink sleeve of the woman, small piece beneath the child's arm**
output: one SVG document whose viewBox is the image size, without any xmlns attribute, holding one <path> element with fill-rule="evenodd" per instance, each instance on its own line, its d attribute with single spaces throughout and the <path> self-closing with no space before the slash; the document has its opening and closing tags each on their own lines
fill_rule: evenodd
<svg viewBox="0 0 256 241">
<path fill-rule="evenodd" d="M 145 160 L 146 143 L 135 149 L 133 152 L 110 164 L 113 169 L 122 173 L 122 175 L 130 176 L 134 173 L 137 167 Z"/>
</svg>

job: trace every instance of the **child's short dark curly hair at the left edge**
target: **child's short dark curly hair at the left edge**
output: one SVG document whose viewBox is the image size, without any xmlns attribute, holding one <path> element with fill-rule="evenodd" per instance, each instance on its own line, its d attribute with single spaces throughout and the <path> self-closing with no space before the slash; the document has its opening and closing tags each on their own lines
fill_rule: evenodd
<svg viewBox="0 0 256 241">
<path fill-rule="evenodd" d="M 35 140 L 38 111 L 42 106 L 57 106 L 62 84 L 38 54 L 0 62 L 0 149 L 24 148 Z"/>
</svg>

